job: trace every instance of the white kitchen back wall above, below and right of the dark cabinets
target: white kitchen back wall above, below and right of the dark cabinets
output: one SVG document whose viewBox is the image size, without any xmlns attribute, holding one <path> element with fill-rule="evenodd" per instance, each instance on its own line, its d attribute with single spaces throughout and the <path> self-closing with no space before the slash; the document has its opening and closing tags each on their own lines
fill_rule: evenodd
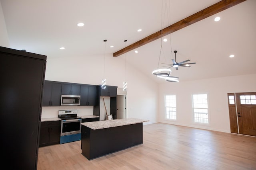
<svg viewBox="0 0 256 170">
<path fill-rule="evenodd" d="M 112 57 L 106 54 L 105 78 L 106 85 L 123 88 L 124 58 Z M 47 57 L 45 80 L 72 82 L 81 84 L 101 84 L 104 73 L 104 56 L 86 56 L 72 58 Z M 157 122 L 158 111 L 158 84 L 152 82 L 147 75 L 126 62 L 127 82 L 127 118 L 150 120 L 144 124 Z M 92 106 L 83 106 L 85 108 Z M 57 117 L 60 107 L 43 107 L 42 117 Z M 66 108 L 66 107 L 65 107 Z M 72 109 L 72 106 L 68 106 Z M 75 108 L 75 107 L 74 107 Z M 93 109 L 82 109 L 76 106 L 78 113 L 92 115 Z M 92 107 L 93 108 L 93 107 Z M 82 115 L 82 114 L 80 114 Z"/>
</svg>

